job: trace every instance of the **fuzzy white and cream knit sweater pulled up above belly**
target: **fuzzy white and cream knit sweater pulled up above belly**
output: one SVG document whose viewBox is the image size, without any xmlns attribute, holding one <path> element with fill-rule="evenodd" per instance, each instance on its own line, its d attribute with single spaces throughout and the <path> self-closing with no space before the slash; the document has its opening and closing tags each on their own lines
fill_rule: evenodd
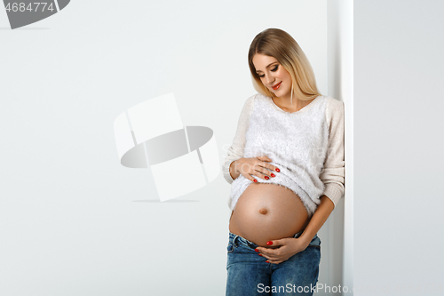
<svg viewBox="0 0 444 296">
<path fill-rule="evenodd" d="M 228 205 L 231 210 L 252 183 L 230 175 L 232 162 L 242 157 L 268 156 L 281 172 L 269 180 L 296 193 L 311 217 L 328 196 L 333 204 L 344 196 L 344 103 L 318 96 L 297 112 L 286 112 L 261 93 L 245 101 L 233 144 L 222 170 L 232 184 Z"/>
</svg>

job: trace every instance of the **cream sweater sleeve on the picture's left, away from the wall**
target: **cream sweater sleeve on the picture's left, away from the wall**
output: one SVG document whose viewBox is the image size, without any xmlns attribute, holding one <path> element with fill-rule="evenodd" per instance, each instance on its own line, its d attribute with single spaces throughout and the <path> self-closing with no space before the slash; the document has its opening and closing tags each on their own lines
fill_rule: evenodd
<svg viewBox="0 0 444 296">
<path fill-rule="evenodd" d="M 233 139 L 233 144 L 228 149 L 227 156 L 222 164 L 222 172 L 224 172 L 224 178 L 228 183 L 233 183 L 233 178 L 230 174 L 230 164 L 235 160 L 243 157 L 243 151 L 245 149 L 245 133 L 249 128 L 250 114 L 254 106 L 254 98 L 256 95 L 251 96 L 245 101 L 243 105 L 241 116 L 237 124 L 236 134 Z"/>
</svg>

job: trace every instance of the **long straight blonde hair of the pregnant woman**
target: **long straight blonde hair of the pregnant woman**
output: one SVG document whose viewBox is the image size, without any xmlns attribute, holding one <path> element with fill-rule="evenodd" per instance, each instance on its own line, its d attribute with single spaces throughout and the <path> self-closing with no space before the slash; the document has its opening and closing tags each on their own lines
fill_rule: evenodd
<svg viewBox="0 0 444 296">
<path fill-rule="evenodd" d="M 249 66 L 253 86 L 256 91 L 274 97 L 274 93 L 262 83 L 253 64 L 253 57 L 261 53 L 278 60 L 291 76 L 291 96 L 299 100 L 312 100 L 321 93 L 316 86 L 316 79 L 310 61 L 289 33 L 279 28 L 267 28 L 260 32 L 250 44 Z"/>
</svg>

